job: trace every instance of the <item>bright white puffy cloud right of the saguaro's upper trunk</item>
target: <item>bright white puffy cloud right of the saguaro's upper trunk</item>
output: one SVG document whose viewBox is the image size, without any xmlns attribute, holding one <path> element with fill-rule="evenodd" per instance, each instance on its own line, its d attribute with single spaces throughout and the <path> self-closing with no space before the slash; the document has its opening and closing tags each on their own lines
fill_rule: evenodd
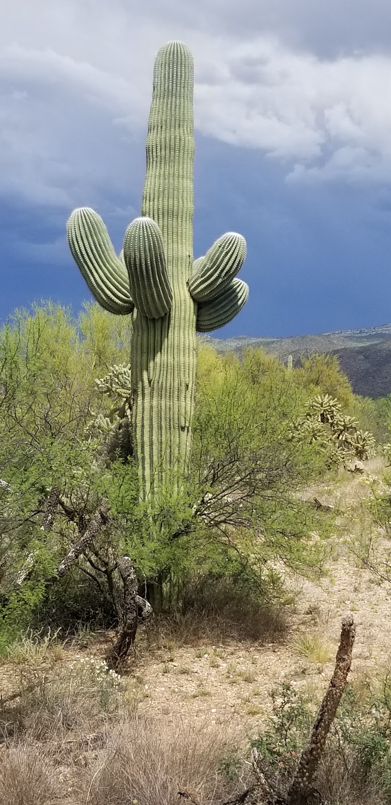
<svg viewBox="0 0 391 805">
<path fill-rule="evenodd" d="M 320 60 L 258 39 L 225 60 L 196 93 L 205 133 L 294 160 L 296 178 L 391 178 L 391 56 Z"/>
</svg>

